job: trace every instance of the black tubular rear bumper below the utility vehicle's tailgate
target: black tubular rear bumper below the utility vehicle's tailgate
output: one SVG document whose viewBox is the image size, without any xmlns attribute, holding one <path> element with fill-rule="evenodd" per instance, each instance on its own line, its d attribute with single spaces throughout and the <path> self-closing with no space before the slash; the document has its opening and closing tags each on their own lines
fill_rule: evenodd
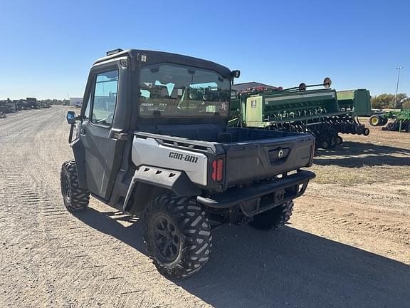
<svg viewBox="0 0 410 308">
<path fill-rule="evenodd" d="M 268 203 L 263 207 L 274 207 L 300 197 L 305 193 L 309 180 L 315 178 L 315 173 L 301 170 L 285 178 L 253 185 L 248 188 L 232 188 L 225 193 L 212 195 L 210 197 L 196 197 L 196 201 L 202 205 L 216 208 L 233 207 L 234 205 L 243 205 L 249 202 L 257 202 L 258 207 L 261 203 Z M 267 209 L 267 208 L 266 208 Z M 266 210 L 265 209 L 265 210 Z"/>
</svg>

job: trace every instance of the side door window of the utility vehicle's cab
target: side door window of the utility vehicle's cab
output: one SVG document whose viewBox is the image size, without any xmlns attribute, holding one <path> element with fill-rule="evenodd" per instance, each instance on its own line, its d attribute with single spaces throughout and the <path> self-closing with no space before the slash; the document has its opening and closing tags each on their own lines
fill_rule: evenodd
<svg viewBox="0 0 410 308">
<path fill-rule="evenodd" d="M 118 70 L 99 73 L 95 78 L 91 122 L 110 126 L 117 103 Z"/>
</svg>

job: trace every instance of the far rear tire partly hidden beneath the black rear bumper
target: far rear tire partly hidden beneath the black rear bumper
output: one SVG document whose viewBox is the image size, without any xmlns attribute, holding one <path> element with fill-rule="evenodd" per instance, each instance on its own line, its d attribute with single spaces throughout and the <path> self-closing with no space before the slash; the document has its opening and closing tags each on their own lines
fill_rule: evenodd
<svg viewBox="0 0 410 308">
<path fill-rule="evenodd" d="M 253 217 L 253 220 L 249 222 L 249 225 L 258 230 L 275 230 L 283 227 L 285 223 L 290 220 L 292 211 L 293 201 L 288 201 L 277 207 L 273 207 L 271 210 L 256 215 Z"/>
</svg>

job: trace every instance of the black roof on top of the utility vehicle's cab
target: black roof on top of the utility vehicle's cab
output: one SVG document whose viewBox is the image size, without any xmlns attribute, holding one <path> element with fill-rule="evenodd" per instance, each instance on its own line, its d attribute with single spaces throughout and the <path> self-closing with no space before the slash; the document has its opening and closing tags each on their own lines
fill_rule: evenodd
<svg viewBox="0 0 410 308">
<path fill-rule="evenodd" d="M 221 66 L 218 63 L 203 60 L 201 58 L 194 58 L 191 56 L 184 56 L 177 53 L 167 53 L 164 51 L 149 51 L 143 49 L 127 49 L 125 51 L 120 51 L 118 53 L 114 53 L 110 56 L 105 56 L 103 58 L 99 58 L 95 61 L 94 64 L 101 63 L 103 61 L 110 60 L 112 58 L 120 58 L 122 56 L 129 56 L 130 58 L 135 58 L 140 55 L 147 56 L 147 64 L 149 63 L 161 63 L 161 62 L 170 62 L 170 63 L 178 63 L 184 64 L 188 66 L 194 66 L 198 68 L 208 68 L 213 71 L 217 71 L 221 73 L 222 76 L 226 78 L 231 78 L 231 70 L 226 66 Z"/>
</svg>

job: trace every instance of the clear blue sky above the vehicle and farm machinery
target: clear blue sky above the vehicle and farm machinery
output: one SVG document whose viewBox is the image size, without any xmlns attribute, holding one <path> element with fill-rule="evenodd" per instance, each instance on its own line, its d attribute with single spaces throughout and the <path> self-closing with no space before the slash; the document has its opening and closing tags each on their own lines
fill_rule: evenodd
<svg viewBox="0 0 410 308">
<path fill-rule="evenodd" d="M 333 4 L 337 2 L 337 4 Z M 409 1 L 1 0 L 0 99 L 83 96 L 93 61 L 146 48 L 240 69 L 236 82 L 410 96 Z"/>
</svg>

